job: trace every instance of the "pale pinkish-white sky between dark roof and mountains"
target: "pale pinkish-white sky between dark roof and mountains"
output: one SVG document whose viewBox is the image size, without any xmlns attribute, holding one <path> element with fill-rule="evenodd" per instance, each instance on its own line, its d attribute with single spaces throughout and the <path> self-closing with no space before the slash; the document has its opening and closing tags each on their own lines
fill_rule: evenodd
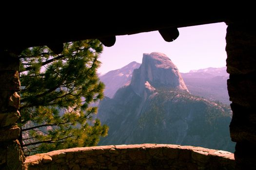
<svg viewBox="0 0 256 170">
<path fill-rule="evenodd" d="M 143 53 L 162 52 L 177 66 L 180 72 L 193 69 L 224 67 L 226 24 L 224 22 L 178 28 L 179 36 L 166 42 L 158 31 L 117 36 L 112 47 L 104 47 L 98 72 L 122 68 L 132 61 L 142 62 Z"/>
</svg>

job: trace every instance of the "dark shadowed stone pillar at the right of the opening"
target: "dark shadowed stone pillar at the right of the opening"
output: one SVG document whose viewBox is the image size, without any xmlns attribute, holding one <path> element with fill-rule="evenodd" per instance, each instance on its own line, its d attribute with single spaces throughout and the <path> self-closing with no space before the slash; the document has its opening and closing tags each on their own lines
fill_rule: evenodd
<svg viewBox="0 0 256 170">
<path fill-rule="evenodd" d="M 236 142 L 236 169 L 256 168 L 256 27 L 228 23 L 226 34 L 228 92 L 233 118 L 232 141 Z"/>
</svg>

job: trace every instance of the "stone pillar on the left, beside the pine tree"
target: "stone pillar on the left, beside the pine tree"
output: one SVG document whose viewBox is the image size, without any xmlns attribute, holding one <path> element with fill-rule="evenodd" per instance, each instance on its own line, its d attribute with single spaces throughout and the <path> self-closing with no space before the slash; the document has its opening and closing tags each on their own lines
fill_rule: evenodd
<svg viewBox="0 0 256 170">
<path fill-rule="evenodd" d="M 17 140 L 20 128 L 19 58 L 0 51 L 0 170 L 21 170 L 24 156 Z"/>
</svg>

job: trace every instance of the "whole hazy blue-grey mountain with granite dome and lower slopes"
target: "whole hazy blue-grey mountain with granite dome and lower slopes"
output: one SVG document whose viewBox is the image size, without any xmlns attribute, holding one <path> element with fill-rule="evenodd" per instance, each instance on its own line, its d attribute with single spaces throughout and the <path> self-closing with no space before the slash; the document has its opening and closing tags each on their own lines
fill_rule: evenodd
<svg viewBox="0 0 256 170">
<path fill-rule="evenodd" d="M 99 145 L 171 143 L 233 152 L 230 107 L 189 93 L 177 67 L 164 54 L 143 54 L 130 84 L 99 103 L 109 126 Z"/>
</svg>

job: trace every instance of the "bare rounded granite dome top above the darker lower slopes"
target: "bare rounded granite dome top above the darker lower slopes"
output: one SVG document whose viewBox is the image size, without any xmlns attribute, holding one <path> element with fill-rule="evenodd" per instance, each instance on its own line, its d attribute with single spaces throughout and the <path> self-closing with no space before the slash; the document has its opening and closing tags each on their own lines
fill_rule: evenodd
<svg viewBox="0 0 256 170">
<path fill-rule="evenodd" d="M 139 96 L 143 95 L 145 84 L 188 92 L 177 67 L 160 52 L 144 53 L 141 66 L 133 72 L 131 86 Z"/>
</svg>

